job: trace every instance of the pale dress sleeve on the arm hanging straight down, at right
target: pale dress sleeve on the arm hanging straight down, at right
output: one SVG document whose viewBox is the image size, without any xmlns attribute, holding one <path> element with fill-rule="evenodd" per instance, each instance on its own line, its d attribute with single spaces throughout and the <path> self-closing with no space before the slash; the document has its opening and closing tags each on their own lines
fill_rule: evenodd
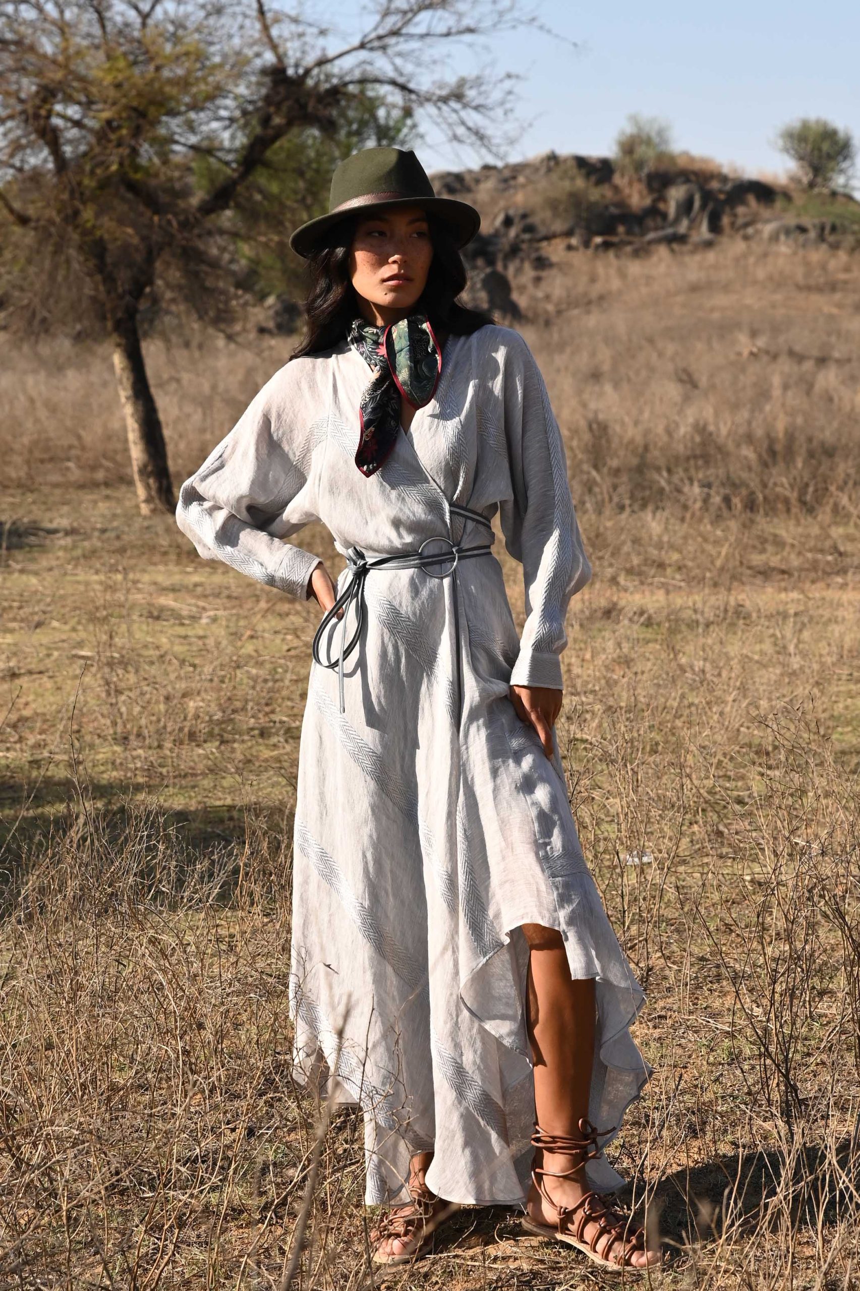
<svg viewBox="0 0 860 1291">
<path fill-rule="evenodd" d="M 523 564 L 526 624 L 510 682 L 560 689 L 567 607 L 591 577 L 591 565 L 544 377 L 526 341 L 513 336 L 502 389 L 514 498 L 500 503 L 500 524 L 507 551 Z"/>
</svg>

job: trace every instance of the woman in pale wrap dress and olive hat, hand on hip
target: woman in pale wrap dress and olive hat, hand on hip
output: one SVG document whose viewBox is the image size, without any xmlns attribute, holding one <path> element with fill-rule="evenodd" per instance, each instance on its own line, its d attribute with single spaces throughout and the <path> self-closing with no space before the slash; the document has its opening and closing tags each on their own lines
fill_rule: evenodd
<svg viewBox="0 0 860 1291">
<path fill-rule="evenodd" d="M 294 1070 L 364 1113 L 374 1260 L 458 1205 L 612 1268 L 660 1259 L 606 1195 L 650 1075 L 642 991 L 585 865 L 554 724 L 590 577 L 564 448 L 519 333 L 456 302 L 480 217 L 367 148 L 296 230 L 307 334 L 182 487 L 220 558 L 325 612 L 294 824 Z M 518 639 L 492 545 L 522 562 Z M 282 540 L 311 520 L 347 567 Z M 536 1119 L 535 1119 L 536 1118 Z M 598 1128 L 595 1128 L 598 1127 Z"/>
</svg>

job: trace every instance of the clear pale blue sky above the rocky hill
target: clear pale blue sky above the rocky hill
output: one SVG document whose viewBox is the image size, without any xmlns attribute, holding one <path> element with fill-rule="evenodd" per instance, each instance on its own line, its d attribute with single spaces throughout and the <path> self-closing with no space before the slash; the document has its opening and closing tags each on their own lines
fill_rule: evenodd
<svg viewBox="0 0 860 1291">
<path fill-rule="evenodd" d="M 524 119 L 507 160 L 612 151 L 629 112 L 670 123 L 678 148 L 783 173 L 776 130 L 825 116 L 860 146 L 860 0 L 542 0 L 535 9 L 573 49 L 537 31 L 502 34 L 487 53 L 520 71 Z M 466 70 L 464 52 L 452 59 Z M 417 148 L 429 170 L 484 160 L 430 137 Z M 860 191 L 860 185 L 855 185 Z"/>
</svg>

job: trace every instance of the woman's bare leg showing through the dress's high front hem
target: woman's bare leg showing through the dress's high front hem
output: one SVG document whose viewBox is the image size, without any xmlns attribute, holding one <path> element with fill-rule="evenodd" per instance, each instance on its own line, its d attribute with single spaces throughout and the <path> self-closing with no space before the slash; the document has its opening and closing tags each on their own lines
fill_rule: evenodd
<svg viewBox="0 0 860 1291">
<path fill-rule="evenodd" d="M 594 1033 L 597 1021 L 594 980 L 571 979 L 560 932 L 540 923 L 524 923 L 529 946 L 528 962 L 528 1038 L 535 1062 L 535 1110 L 537 1123 L 548 1133 L 580 1137 L 580 1119 L 589 1114 Z M 598 1127 L 602 1128 L 602 1127 Z M 541 1149 L 537 1149 L 538 1153 Z M 538 1164 L 548 1170 L 571 1170 L 577 1158 L 569 1153 L 544 1152 Z M 558 1206 L 573 1206 L 586 1193 L 582 1170 L 568 1179 L 546 1177 L 546 1192 Z M 553 1228 L 558 1216 L 532 1184 L 527 1210 L 532 1219 Z M 585 1241 L 597 1232 L 593 1221 L 584 1230 Z M 597 1247 L 604 1259 L 620 1259 L 621 1243 L 607 1251 L 604 1237 Z M 635 1251 L 629 1263 L 640 1268 L 657 1263 L 659 1251 Z"/>
</svg>

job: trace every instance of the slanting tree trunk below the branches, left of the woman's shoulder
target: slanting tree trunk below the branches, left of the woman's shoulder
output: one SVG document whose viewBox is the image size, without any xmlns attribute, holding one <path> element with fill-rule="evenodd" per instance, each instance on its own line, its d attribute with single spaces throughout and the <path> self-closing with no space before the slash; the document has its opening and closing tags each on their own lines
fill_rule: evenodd
<svg viewBox="0 0 860 1291">
<path fill-rule="evenodd" d="M 176 509 L 161 420 L 146 374 L 137 310 L 123 314 L 111 328 L 114 372 L 125 416 L 134 488 L 142 515 Z"/>
</svg>

